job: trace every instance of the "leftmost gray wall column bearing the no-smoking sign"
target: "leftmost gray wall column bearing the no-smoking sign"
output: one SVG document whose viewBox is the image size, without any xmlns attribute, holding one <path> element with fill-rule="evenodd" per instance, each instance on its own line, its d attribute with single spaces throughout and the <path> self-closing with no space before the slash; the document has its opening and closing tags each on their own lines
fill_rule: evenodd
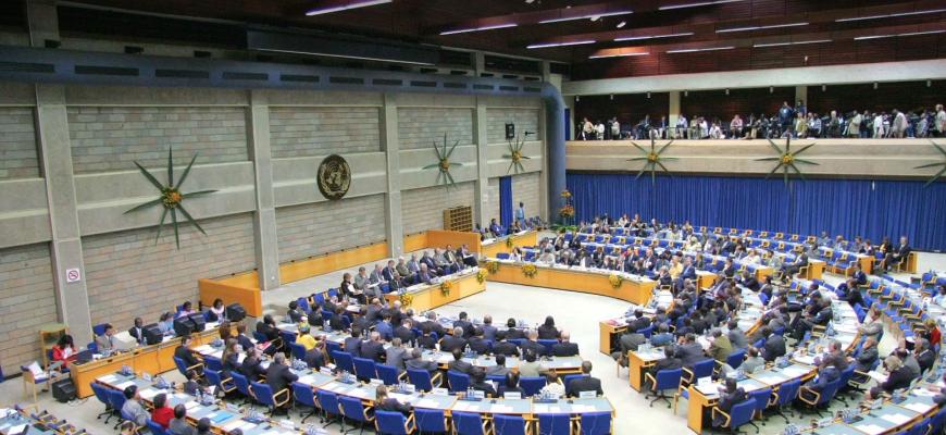
<svg viewBox="0 0 946 435">
<path fill-rule="evenodd" d="M 62 85 L 36 85 L 36 132 L 49 202 L 50 252 L 59 318 L 75 343 L 86 344 L 92 340 L 92 326 Z M 77 271 L 78 281 L 69 279 L 69 271 Z"/>
</svg>

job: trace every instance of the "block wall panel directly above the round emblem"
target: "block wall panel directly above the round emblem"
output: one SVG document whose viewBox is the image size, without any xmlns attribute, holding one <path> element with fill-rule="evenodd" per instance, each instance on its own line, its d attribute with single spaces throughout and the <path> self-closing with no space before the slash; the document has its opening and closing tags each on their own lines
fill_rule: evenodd
<svg viewBox="0 0 946 435">
<path fill-rule="evenodd" d="M 275 159 L 381 150 L 377 108 L 270 108 Z"/>
</svg>

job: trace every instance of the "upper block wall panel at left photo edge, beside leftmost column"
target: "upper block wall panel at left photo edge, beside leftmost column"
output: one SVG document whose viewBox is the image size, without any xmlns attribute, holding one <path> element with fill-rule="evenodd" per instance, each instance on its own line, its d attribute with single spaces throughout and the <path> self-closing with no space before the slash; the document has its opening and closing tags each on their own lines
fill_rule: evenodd
<svg viewBox="0 0 946 435">
<path fill-rule="evenodd" d="M 0 108 L 0 179 L 39 176 L 32 108 Z"/>
</svg>

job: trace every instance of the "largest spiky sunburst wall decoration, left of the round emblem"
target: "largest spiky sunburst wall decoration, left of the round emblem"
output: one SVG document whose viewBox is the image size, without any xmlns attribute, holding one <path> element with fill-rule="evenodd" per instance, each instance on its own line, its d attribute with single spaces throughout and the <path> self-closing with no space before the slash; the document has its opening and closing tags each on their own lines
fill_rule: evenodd
<svg viewBox="0 0 946 435">
<path fill-rule="evenodd" d="M 171 223 L 174 226 L 174 241 L 177 245 L 177 249 L 181 249 L 181 235 L 179 235 L 179 228 L 178 228 L 179 225 L 177 222 L 177 212 L 178 211 L 181 211 L 181 214 L 183 214 L 184 217 L 187 219 L 187 222 L 190 222 L 194 226 L 196 226 L 197 229 L 199 229 L 200 233 L 202 233 L 204 236 L 207 235 L 207 233 L 203 231 L 203 228 L 200 227 L 200 224 L 198 224 L 197 221 L 195 221 L 194 217 L 190 215 L 190 213 L 187 212 L 187 209 L 184 208 L 184 200 L 190 199 L 190 198 L 196 198 L 196 197 L 199 197 L 202 195 L 213 194 L 216 190 L 198 190 L 198 191 L 191 191 L 189 194 L 184 194 L 181 191 L 181 186 L 184 184 L 184 181 L 187 179 L 187 175 L 190 174 L 190 167 L 194 166 L 194 162 L 196 160 L 197 160 L 197 154 L 195 153 L 194 158 L 190 159 L 190 163 L 187 164 L 187 169 L 184 170 L 184 174 L 181 175 L 181 178 L 177 181 L 177 184 L 175 184 L 174 183 L 173 154 L 172 154 L 171 149 L 169 149 L 167 150 L 167 185 L 166 186 L 162 185 L 161 182 L 159 182 L 158 178 L 154 177 L 154 175 L 151 175 L 151 173 L 148 172 L 148 170 L 146 170 L 144 166 L 141 166 L 140 163 L 138 163 L 137 161 L 135 162 L 135 165 L 138 166 L 138 170 L 141 171 L 141 174 L 145 175 L 145 178 L 147 178 L 149 182 L 151 182 L 152 185 L 154 185 L 155 188 L 158 188 L 160 196 L 158 197 L 158 199 L 139 204 L 139 206 L 126 211 L 123 214 L 128 214 L 128 213 L 132 213 L 132 212 L 135 212 L 138 210 L 144 210 L 144 209 L 150 208 L 152 206 L 158 206 L 158 204 L 162 206 L 164 208 L 164 212 L 161 213 L 161 221 L 158 222 L 158 235 L 154 236 L 155 244 L 158 243 L 158 239 L 161 237 L 161 229 L 164 228 L 164 220 L 167 219 L 169 212 L 171 213 Z"/>
</svg>

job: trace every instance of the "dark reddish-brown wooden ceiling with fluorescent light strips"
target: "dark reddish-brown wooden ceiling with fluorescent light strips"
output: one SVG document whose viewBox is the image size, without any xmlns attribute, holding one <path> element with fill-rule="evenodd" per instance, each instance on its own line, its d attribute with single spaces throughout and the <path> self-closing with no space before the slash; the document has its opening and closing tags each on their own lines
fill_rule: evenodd
<svg viewBox="0 0 946 435">
<path fill-rule="evenodd" d="M 71 3 L 318 29 L 573 64 L 596 62 L 589 60 L 593 55 L 608 57 L 634 51 L 663 53 L 814 39 L 843 42 L 852 41 L 859 36 L 888 32 L 946 32 L 946 12 L 943 12 L 946 3 L 938 0 L 393 0 L 386 4 L 306 15 L 311 9 L 346 1 L 364 0 L 74 0 Z M 715 4 L 667 9 L 692 3 Z M 608 15 L 627 10 L 633 13 L 601 16 L 594 21 L 582 18 L 539 23 L 557 17 Z M 889 16 L 930 10 L 938 12 Z M 884 17 L 846 20 L 869 16 Z M 621 22 L 625 24 L 618 28 Z M 511 24 L 515 26 L 441 35 L 450 30 Z M 719 32 L 754 26 L 768 28 Z M 639 39 L 665 35 L 679 36 Z M 615 41 L 619 38 L 638 39 Z M 595 42 L 577 44 L 587 41 Z M 556 44 L 577 45 L 526 48 L 531 45 Z"/>
</svg>

